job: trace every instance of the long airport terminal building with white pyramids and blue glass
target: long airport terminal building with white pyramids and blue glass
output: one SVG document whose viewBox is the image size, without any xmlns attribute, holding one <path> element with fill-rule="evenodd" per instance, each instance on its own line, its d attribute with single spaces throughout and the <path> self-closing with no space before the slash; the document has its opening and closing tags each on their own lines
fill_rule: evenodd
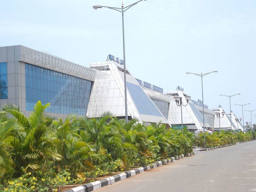
<svg viewBox="0 0 256 192">
<path fill-rule="evenodd" d="M 0 47 L 0 106 L 14 103 L 29 115 L 40 100 L 51 103 L 46 112 L 57 118 L 67 114 L 92 118 L 106 111 L 124 118 L 123 61 L 112 55 L 108 58 L 84 67 L 22 45 Z M 179 95 L 185 101 L 184 91 L 165 94 L 162 88 L 133 77 L 127 69 L 126 73 L 128 119 L 161 121 L 170 127 L 181 125 L 180 107 L 173 96 Z M 200 100 L 190 100 L 183 107 L 183 124 L 190 131 L 202 129 L 202 107 Z M 215 110 L 204 106 L 205 127 L 217 126 Z"/>
</svg>

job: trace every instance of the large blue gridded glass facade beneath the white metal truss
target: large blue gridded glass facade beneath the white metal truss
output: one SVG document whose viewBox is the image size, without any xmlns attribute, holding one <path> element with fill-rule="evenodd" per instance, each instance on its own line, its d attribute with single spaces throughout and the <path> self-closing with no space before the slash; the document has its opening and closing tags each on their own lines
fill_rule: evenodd
<svg viewBox="0 0 256 192">
<path fill-rule="evenodd" d="M 51 103 L 49 113 L 86 115 L 92 82 L 30 64 L 25 71 L 26 110 L 40 100 Z"/>
</svg>

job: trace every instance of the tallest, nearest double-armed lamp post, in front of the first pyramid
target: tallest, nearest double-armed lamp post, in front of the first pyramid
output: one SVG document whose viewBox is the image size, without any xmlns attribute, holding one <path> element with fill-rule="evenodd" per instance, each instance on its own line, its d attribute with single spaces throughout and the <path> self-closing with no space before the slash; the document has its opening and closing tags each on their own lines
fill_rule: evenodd
<svg viewBox="0 0 256 192">
<path fill-rule="evenodd" d="M 143 0 L 140 0 L 143 1 Z M 128 122 L 128 109 L 127 109 L 127 88 L 126 88 L 126 63 L 125 63 L 125 31 L 124 31 L 124 12 L 131 8 L 132 6 L 136 5 L 140 1 L 137 1 L 135 3 L 132 3 L 128 6 L 124 6 L 124 3 L 122 2 L 121 8 L 116 7 L 109 7 L 109 6 L 101 6 L 101 5 L 94 5 L 93 9 L 99 9 L 99 8 L 109 8 L 116 11 L 119 11 L 122 13 L 122 22 L 123 22 L 123 53 L 124 53 L 124 83 L 125 83 L 125 121 Z M 146 0 L 144 0 L 146 1 Z"/>
</svg>

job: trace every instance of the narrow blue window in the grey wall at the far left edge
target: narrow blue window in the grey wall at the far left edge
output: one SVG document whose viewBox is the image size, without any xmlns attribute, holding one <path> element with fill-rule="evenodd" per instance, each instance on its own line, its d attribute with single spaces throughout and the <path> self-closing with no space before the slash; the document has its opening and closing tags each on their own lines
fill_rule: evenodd
<svg viewBox="0 0 256 192">
<path fill-rule="evenodd" d="M 0 63 L 0 99 L 8 99 L 7 63 Z"/>
</svg>

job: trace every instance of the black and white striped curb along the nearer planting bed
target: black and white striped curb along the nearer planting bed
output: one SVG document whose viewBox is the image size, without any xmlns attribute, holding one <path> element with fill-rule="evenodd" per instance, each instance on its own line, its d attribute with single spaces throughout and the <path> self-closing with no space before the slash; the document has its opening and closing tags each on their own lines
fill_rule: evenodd
<svg viewBox="0 0 256 192">
<path fill-rule="evenodd" d="M 189 153 L 188 156 L 192 156 L 193 154 L 195 154 L 195 153 L 194 152 Z M 101 179 L 99 181 L 94 181 L 94 182 L 91 182 L 91 183 L 87 183 L 83 186 L 78 186 L 78 187 L 72 188 L 72 189 L 64 191 L 64 192 L 89 192 L 89 191 L 94 191 L 94 190 L 99 189 L 101 187 L 111 185 L 111 184 L 113 184 L 115 182 L 118 182 L 120 180 L 132 177 L 132 176 L 137 175 L 137 174 L 141 174 L 144 171 L 159 167 L 161 165 L 166 165 L 167 163 L 175 162 L 177 159 L 180 159 L 180 158 L 184 158 L 184 155 L 182 154 L 181 156 L 171 157 L 169 159 L 163 159 L 161 161 L 151 163 L 147 166 L 134 168 L 130 171 L 127 171 L 127 172 L 124 172 L 124 173 L 119 173 L 117 175 L 113 175 L 111 177 Z"/>
</svg>

